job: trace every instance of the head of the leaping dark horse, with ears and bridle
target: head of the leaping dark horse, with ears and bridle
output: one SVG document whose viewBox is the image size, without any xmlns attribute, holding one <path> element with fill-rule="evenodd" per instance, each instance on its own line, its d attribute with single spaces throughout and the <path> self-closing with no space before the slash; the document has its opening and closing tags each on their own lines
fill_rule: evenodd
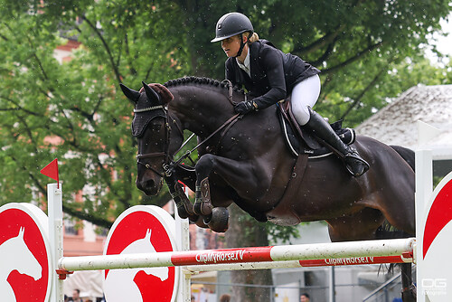
<svg viewBox="0 0 452 302">
<path fill-rule="evenodd" d="M 173 95 L 165 86 L 143 82 L 142 92 L 120 84 L 127 99 L 135 103 L 132 135 L 137 137 L 137 188 L 147 195 L 160 192 L 167 166 L 182 145 L 183 133 L 168 118 L 167 104 Z M 176 131 L 172 131 L 172 130 Z"/>
</svg>

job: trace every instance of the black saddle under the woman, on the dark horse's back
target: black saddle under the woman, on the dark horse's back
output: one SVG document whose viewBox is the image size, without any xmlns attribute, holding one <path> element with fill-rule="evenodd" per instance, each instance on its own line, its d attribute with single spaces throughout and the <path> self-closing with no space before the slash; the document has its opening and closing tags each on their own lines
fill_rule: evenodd
<svg viewBox="0 0 452 302">
<path fill-rule="evenodd" d="M 309 158 L 320 158 L 330 156 L 333 152 L 318 142 L 318 138 L 309 127 L 299 126 L 293 116 L 289 102 L 278 103 L 278 119 L 283 130 L 286 145 L 293 156 L 307 154 Z M 353 144 L 356 136 L 354 129 L 343 128 L 342 120 L 330 124 L 335 133 L 342 139 L 344 144 Z"/>
</svg>

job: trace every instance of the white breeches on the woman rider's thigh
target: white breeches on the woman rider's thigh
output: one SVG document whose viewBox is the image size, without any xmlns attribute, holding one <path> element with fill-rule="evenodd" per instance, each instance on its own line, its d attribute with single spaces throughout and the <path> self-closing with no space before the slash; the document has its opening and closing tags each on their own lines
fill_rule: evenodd
<svg viewBox="0 0 452 302">
<path fill-rule="evenodd" d="M 320 95 L 320 78 L 317 74 L 300 81 L 292 90 L 290 105 L 301 126 L 306 125 L 310 115 L 307 107 L 313 108 Z"/>
</svg>

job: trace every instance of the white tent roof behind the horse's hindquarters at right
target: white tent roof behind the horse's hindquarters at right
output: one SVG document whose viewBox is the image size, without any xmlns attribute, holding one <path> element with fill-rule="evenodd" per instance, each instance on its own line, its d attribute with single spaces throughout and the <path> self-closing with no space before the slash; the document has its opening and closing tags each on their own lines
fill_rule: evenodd
<svg viewBox="0 0 452 302">
<path fill-rule="evenodd" d="M 450 171 L 452 85 L 411 87 L 356 127 L 356 132 L 388 145 L 405 146 L 415 150 L 418 146 L 419 120 L 441 130 L 438 137 L 428 142 L 428 146 L 432 148 L 433 158 L 437 161 L 436 169 Z"/>
</svg>

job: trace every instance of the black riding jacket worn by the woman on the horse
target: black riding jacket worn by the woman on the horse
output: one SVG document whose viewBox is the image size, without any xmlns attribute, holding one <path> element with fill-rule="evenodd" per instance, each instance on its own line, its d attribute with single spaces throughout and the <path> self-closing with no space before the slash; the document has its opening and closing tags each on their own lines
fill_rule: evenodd
<svg viewBox="0 0 452 302">
<path fill-rule="evenodd" d="M 228 58 L 226 79 L 234 85 L 245 85 L 259 109 L 286 99 L 294 86 L 320 73 L 296 55 L 284 53 L 267 40 L 250 44 L 250 74 L 240 69 L 235 58 Z"/>
</svg>

